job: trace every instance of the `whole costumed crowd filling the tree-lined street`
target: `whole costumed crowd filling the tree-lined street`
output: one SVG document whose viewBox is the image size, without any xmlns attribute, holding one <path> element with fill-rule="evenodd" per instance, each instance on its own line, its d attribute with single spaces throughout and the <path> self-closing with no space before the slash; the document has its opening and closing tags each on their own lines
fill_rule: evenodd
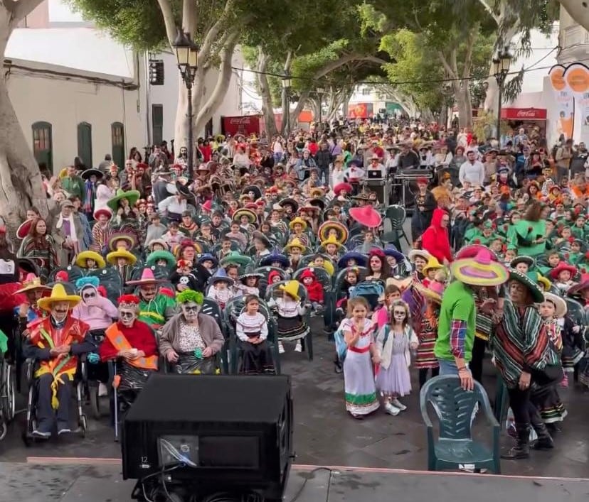
<svg viewBox="0 0 589 502">
<path fill-rule="evenodd" d="M 290 348 L 311 356 L 317 316 L 354 418 L 405 410 L 410 368 L 420 386 L 439 373 L 486 383 L 490 352 L 514 417 L 506 457 L 529 456 L 531 429 L 536 448 L 553 447 L 558 391 L 589 386 L 584 152 L 548 151 L 536 129 L 499 145 L 419 121 L 345 121 L 201 138 L 193 178 L 187 149 L 166 144 L 124 166 L 106 155 L 47 173 L 49 214 L 29 208 L 16 241 L 0 232 L 7 358 L 38 361 L 33 435 L 70 432 L 80 356 L 101 394 L 117 361 L 124 410 L 162 364 L 223 371 L 228 337 L 245 374 L 274 373 Z M 366 190 L 369 170 L 423 170 L 405 253 L 383 231 L 398 194 Z M 222 317 L 238 305 L 232 325 L 207 302 Z"/>
</svg>

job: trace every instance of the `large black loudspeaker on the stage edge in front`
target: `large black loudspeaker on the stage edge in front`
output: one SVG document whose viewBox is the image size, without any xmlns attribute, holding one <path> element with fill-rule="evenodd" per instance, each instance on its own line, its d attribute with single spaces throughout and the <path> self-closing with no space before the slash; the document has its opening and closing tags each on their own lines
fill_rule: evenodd
<svg viewBox="0 0 589 502">
<path fill-rule="evenodd" d="M 292 464 L 290 377 L 156 373 L 124 417 L 121 447 L 124 479 L 278 501 Z"/>
</svg>

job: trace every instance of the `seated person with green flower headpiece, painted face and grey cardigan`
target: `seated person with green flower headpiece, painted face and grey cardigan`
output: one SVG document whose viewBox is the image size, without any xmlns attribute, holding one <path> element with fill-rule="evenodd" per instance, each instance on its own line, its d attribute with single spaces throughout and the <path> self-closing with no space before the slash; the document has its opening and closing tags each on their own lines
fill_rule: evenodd
<svg viewBox="0 0 589 502">
<path fill-rule="evenodd" d="M 223 349 L 223 333 L 216 320 L 201 313 L 204 297 L 184 290 L 176 299 L 181 308 L 161 329 L 159 352 L 176 373 L 219 373 L 216 354 Z"/>
</svg>

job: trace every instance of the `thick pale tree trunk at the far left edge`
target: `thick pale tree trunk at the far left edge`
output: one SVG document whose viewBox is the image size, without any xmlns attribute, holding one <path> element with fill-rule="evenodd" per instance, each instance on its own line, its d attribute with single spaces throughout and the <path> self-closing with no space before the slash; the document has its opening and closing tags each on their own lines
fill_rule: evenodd
<svg viewBox="0 0 589 502">
<path fill-rule="evenodd" d="M 23 6 L 24 2 L 21 8 Z M 2 55 L 6 52 L 14 21 L 14 13 L 7 10 L 4 3 L 0 4 Z M 28 207 L 38 207 L 43 217 L 47 217 L 49 211 L 41 173 L 10 101 L 5 73 L 0 77 L 0 123 L 0 214 L 9 232 L 14 234 L 25 219 Z"/>
</svg>

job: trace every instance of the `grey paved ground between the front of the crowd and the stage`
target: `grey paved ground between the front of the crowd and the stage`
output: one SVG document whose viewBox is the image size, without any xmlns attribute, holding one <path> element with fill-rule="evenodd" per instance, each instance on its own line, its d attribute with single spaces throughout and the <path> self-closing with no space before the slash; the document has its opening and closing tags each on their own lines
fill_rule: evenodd
<svg viewBox="0 0 589 502">
<path fill-rule="evenodd" d="M 397 417 L 381 410 L 357 421 L 344 409 L 343 376 L 334 373 L 333 346 L 324 334 L 314 337 L 315 359 L 307 361 L 287 347 L 283 372 L 293 376 L 295 399 L 295 452 L 297 464 L 361 466 L 392 469 L 426 469 L 425 428 L 418 410 L 418 393 L 405 399 L 408 410 Z M 485 386 L 494 394 L 494 369 L 489 364 Z M 413 371 L 413 373 L 416 373 Z M 416 375 L 413 385 L 417 388 Z M 531 459 L 502 462 L 504 474 L 589 478 L 589 393 L 562 392 L 569 415 L 556 435 L 553 452 L 533 452 Z M 90 413 L 90 410 L 88 410 Z M 90 420 L 87 437 L 54 439 L 27 448 L 21 440 L 23 415 L 11 425 L 0 443 L 0 462 L 26 462 L 27 457 L 119 458 L 112 429 L 105 418 Z M 485 430 L 477 419 L 477 435 Z M 511 444 L 502 432 L 504 445 Z M 1 498 L 1 496 L 0 496 Z"/>
</svg>

